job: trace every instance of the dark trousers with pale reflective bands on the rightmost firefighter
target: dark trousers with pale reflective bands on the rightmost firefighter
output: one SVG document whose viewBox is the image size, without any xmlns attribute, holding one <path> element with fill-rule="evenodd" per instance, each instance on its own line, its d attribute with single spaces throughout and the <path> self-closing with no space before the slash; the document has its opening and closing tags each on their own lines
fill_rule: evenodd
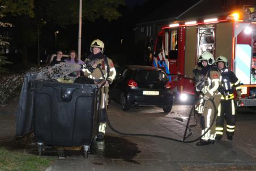
<svg viewBox="0 0 256 171">
<path fill-rule="evenodd" d="M 234 99 L 220 101 L 216 120 L 216 135 L 219 136 L 219 138 L 221 138 L 223 135 L 224 118 L 227 121 L 227 135 L 234 135 L 234 127 L 236 125 L 235 111 Z"/>
</svg>

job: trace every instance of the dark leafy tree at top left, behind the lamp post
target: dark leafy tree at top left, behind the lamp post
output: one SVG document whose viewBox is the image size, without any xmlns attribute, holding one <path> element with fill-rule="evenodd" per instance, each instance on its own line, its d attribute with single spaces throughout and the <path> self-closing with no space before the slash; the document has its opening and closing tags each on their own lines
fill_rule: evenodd
<svg viewBox="0 0 256 171">
<path fill-rule="evenodd" d="M 70 0 L 2 0 L 5 14 L 15 25 L 17 39 L 23 46 L 23 63 L 27 64 L 27 48 L 36 41 L 37 29 L 42 23 L 54 23 L 60 27 L 78 23 L 79 1 Z M 121 13 L 117 8 L 125 5 L 123 0 L 84 0 L 83 20 L 95 21 L 103 16 L 110 21 L 117 19 Z M 42 22 L 43 21 L 43 22 Z"/>
</svg>

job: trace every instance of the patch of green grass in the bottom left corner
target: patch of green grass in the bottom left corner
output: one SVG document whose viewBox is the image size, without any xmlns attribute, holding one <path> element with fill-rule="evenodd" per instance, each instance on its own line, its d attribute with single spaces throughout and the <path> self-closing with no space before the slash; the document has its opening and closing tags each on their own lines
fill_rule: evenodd
<svg viewBox="0 0 256 171">
<path fill-rule="evenodd" d="M 10 151 L 0 147 L 0 170 L 45 170 L 54 157 L 36 156 L 28 153 Z"/>
</svg>

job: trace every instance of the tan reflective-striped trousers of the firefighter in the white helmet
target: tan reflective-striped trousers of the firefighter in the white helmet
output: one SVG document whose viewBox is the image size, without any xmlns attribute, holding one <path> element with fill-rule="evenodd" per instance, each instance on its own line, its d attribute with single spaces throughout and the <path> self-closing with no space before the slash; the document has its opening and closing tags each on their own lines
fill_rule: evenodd
<svg viewBox="0 0 256 171">
<path fill-rule="evenodd" d="M 217 109 L 217 106 L 219 106 L 220 104 L 220 97 L 221 97 L 220 93 L 217 93 L 212 97 L 212 100 L 214 101 L 216 109 Z M 213 125 L 206 132 L 206 134 L 202 136 L 201 139 L 204 141 L 215 140 L 216 117 L 215 117 L 215 120 L 213 120 L 215 113 L 216 111 L 214 110 L 214 105 L 210 100 L 207 100 L 204 104 L 203 114 L 201 116 L 202 135 L 204 134 L 204 132 L 206 132 L 210 128 L 212 122 L 213 122 Z"/>
</svg>

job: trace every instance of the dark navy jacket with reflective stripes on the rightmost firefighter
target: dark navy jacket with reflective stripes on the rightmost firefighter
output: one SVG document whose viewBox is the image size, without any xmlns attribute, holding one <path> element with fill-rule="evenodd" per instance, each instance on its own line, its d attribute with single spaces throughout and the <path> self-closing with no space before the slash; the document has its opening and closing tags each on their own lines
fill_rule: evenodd
<svg viewBox="0 0 256 171">
<path fill-rule="evenodd" d="M 237 93 L 237 98 L 241 99 L 240 80 L 236 77 L 234 72 L 228 70 L 227 68 L 221 69 L 221 87 L 219 91 L 221 92 L 221 99 L 229 100 L 234 99 L 234 91 Z"/>
</svg>

